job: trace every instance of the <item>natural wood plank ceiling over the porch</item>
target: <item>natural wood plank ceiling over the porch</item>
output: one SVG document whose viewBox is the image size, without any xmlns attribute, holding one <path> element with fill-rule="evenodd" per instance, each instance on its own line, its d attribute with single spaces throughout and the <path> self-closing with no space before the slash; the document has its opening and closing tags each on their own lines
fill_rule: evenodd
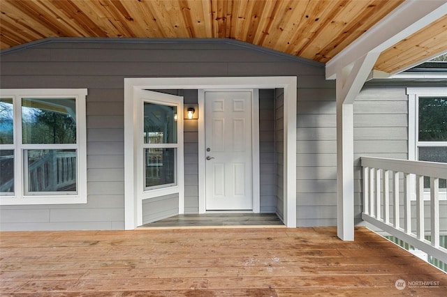
<svg viewBox="0 0 447 297">
<path fill-rule="evenodd" d="M 232 38 L 327 62 L 403 0 L 1 0 L 0 48 L 47 37 Z M 447 50 L 447 15 L 383 52 L 396 73 Z"/>
</svg>

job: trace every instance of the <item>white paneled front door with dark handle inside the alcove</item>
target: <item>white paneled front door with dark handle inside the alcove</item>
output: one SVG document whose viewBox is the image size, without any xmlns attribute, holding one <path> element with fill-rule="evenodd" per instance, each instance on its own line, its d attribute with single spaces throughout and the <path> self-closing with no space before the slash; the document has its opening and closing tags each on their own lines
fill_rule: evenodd
<svg viewBox="0 0 447 297">
<path fill-rule="evenodd" d="M 252 210 L 251 91 L 205 92 L 207 211 Z"/>
</svg>

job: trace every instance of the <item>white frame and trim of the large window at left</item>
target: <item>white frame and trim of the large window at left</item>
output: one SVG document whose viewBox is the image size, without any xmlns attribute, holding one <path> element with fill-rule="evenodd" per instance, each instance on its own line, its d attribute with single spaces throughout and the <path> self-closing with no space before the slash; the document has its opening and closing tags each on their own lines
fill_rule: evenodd
<svg viewBox="0 0 447 297">
<path fill-rule="evenodd" d="M 26 195 L 24 193 L 24 160 L 23 150 L 27 148 L 22 144 L 20 131 L 22 123 L 17 121 L 21 118 L 20 99 L 24 96 L 64 98 L 71 97 L 76 100 L 76 134 L 78 143 L 73 145 L 61 144 L 57 148 L 75 148 L 78 151 L 77 161 L 77 183 L 76 194 L 64 195 Z M 13 149 L 15 151 L 15 185 L 14 195 L 0 197 L 0 205 L 34 205 L 34 204 L 85 204 L 87 203 L 87 123 L 86 123 L 86 96 L 87 89 L 1 89 L 2 98 L 13 98 L 14 102 L 14 144 L 0 145 L 0 149 Z M 38 148 L 38 146 L 32 146 Z M 45 147 L 47 148 L 47 147 Z"/>
</svg>

